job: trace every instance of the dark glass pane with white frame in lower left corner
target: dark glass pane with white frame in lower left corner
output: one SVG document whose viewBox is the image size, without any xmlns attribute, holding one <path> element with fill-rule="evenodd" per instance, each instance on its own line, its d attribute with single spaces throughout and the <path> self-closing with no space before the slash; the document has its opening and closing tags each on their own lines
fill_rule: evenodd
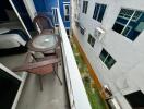
<svg viewBox="0 0 144 109">
<path fill-rule="evenodd" d="M 10 72 L 0 64 L 0 109 L 14 109 L 14 101 L 17 100 L 17 92 L 21 88 L 20 76 Z"/>
</svg>

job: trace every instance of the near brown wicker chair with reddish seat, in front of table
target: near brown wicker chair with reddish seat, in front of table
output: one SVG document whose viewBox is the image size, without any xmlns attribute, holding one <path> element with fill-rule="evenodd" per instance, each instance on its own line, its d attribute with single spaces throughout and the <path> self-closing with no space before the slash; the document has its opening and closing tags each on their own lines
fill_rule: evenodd
<svg viewBox="0 0 144 109">
<path fill-rule="evenodd" d="M 40 59 L 35 59 L 34 52 L 28 52 L 25 64 L 14 68 L 12 71 L 14 72 L 26 71 L 28 73 L 38 75 L 40 83 L 40 90 L 43 90 L 41 75 L 46 75 L 52 72 L 58 77 L 60 84 L 62 85 L 62 81 L 58 75 L 58 63 L 60 62 L 60 60 L 61 59 L 56 55 L 44 57 Z"/>
</svg>

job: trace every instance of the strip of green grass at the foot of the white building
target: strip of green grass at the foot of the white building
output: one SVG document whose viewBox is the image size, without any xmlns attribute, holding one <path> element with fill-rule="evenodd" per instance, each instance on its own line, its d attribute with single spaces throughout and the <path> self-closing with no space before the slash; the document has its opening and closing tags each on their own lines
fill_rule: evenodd
<svg viewBox="0 0 144 109">
<path fill-rule="evenodd" d="M 75 44 L 72 44 L 72 49 L 75 56 L 75 60 L 80 70 L 81 75 L 86 75 L 88 76 L 88 80 L 83 78 L 83 83 L 88 96 L 88 100 L 91 102 L 92 109 L 107 109 L 106 104 L 104 99 L 100 97 L 98 89 L 93 88 L 91 86 L 91 80 L 93 80 L 88 73 L 87 64 L 84 62 L 83 58 L 81 57 L 79 49 L 76 48 Z"/>
</svg>

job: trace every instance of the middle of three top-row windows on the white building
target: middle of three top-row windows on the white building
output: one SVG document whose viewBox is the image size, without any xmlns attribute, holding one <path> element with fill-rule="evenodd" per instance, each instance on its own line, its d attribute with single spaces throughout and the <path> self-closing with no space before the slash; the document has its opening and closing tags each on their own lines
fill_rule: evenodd
<svg viewBox="0 0 144 109">
<path fill-rule="evenodd" d="M 96 3 L 95 9 L 94 9 L 93 19 L 97 20 L 98 22 L 101 22 L 105 10 L 106 10 L 106 4 Z"/>
</svg>

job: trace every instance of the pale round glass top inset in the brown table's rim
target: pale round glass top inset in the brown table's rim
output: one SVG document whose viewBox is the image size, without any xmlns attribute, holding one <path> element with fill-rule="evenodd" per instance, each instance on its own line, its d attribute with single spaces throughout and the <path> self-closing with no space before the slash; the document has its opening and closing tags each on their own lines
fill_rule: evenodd
<svg viewBox="0 0 144 109">
<path fill-rule="evenodd" d="M 57 41 L 55 35 L 40 35 L 33 40 L 32 45 L 38 49 L 47 49 L 53 47 Z"/>
</svg>

